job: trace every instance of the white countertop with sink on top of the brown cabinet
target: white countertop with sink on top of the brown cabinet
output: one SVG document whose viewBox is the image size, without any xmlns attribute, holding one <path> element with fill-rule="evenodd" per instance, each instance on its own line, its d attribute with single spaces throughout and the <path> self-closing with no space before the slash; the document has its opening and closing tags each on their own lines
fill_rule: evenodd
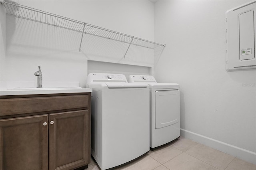
<svg viewBox="0 0 256 170">
<path fill-rule="evenodd" d="M 92 89 L 81 87 L 60 87 L 60 88 L 16 88 L 1 90 L 0 96 L 6 95 L 40 95 L 40 94 L 58 94 L 58 93 L 88 93 Z"/>
</svg>

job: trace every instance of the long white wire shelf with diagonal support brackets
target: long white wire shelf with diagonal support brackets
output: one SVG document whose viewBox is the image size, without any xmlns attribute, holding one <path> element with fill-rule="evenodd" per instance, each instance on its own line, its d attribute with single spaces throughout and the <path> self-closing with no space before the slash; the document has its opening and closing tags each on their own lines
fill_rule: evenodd
<svg viewBox="0 0 256 170">
<path fill-rule="evenodd" d="M 94 26 L 92 24 L 87 24 L 49 12 L 44 12 L 27 6 L 17 4 L 16 2 L 4 0 L 3 4 L 6 8 L 7 14 L 16 16 L 18 18 L 24 18 L 27 20 L 32 20 L 52 26 L 57 26 L 60 28 L 65 28 L 68 30 L 73 30 L 76 32 L 81 32 L 84 34 L 89 34 L 93 36 L 98 36 L 101 38 L 106 38 L 109 40 L 115 40 L 118 42 L 128 43 L 130 45 L 138 45 L 140 47 L 146 47 L 150 49 L 155 49 L 156 47 L 165 47 L 165 45 L 160 43 L 151 42 L 134 36 L 129 36 L 127 34 L 122 34 L 120 32 L 108 30 L 106 28 L 101 28 Z M 83 34 L 82 34 L 83 36 Z M 81 40 L 82 43 L 82 40 Z M 129 49 L 128 47 L 128 49 Z M 81 48 L 81 45 L 80 45 Z M 127 51 L 128 51 L 127 49 Z M 126 53 L 127 53 L 126 51 Z M 125 53 L 125 55 L 126 55 Z M 124 57 L 125 57 L 124 55 Z"/>
</svg>

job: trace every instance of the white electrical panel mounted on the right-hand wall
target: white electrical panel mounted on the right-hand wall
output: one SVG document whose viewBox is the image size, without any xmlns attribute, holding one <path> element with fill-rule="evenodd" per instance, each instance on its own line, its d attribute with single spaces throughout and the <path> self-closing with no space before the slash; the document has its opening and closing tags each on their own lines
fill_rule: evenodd
<svg viewBox="0 0 256 170">
<path fill-rule="evenodd" d="M 226 70 L 256 69 L 256 1 L 226 12 Z"/>
</svg>

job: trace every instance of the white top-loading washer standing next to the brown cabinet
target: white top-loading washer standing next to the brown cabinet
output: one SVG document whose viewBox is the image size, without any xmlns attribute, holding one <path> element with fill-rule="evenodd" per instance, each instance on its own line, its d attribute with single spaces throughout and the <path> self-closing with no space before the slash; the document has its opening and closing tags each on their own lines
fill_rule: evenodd
<svg viewBox="0 0 256 170">
<path fill-rule="evenodd" d="M 127 83 L 122 74 L 90 73 L 91 153 L 102 170 L 147 153 L 149 86 Z"/>
</svg>

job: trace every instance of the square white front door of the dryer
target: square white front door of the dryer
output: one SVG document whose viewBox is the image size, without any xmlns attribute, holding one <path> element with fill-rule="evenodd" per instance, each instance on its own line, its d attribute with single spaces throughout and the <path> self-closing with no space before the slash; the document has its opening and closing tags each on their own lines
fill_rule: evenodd
<svg viewBox="0 0 256 170">
<path fill-rule="evenodd" d="M 163 128 L 180 121 L 180 91 L 155 92 L 155 127 Z"/>
</svg>

